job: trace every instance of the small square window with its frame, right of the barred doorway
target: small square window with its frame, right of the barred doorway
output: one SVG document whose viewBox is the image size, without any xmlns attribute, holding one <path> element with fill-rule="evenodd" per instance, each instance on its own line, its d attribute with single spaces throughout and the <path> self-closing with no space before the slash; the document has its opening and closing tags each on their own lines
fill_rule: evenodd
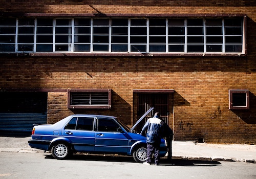
<svg viewBox="0 0 256 179">
<path fill-rule="evenodd" d="M 249 109 L 249 91 L 229 89 L 229 109 Z"/>
</svg>

